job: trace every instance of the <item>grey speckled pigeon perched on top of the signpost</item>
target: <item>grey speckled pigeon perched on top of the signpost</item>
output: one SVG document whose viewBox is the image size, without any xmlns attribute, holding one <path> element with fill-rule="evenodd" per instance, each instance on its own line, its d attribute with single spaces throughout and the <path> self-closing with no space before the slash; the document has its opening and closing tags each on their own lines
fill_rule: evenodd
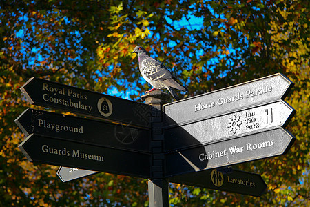
<svg viewBox="0 0 310 207">
<path fill-rule="evenodd" d="M 172 97 L 178 101 L 179 97 L 174 89 L 187 91 L 187 88 L 181 86 L 180 83 L 176 81 L 176 78 L 172 76 L 171 72 L 169 72 L 163 63 L 147 55 L 145 48 L 136 46 L 132 53 L 138 54 L 139 70 L 141 75 L 145 81 L 152 86 L 152 89 L 147 92 L 166 88 Z"/>
</svg>

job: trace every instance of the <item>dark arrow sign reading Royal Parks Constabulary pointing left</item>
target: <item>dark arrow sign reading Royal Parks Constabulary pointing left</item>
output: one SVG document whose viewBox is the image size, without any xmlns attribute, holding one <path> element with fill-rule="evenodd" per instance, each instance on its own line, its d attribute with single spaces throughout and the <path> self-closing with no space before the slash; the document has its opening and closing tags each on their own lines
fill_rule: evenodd
<svg viewBox="0 0 310 207">
<path fill-rule="evenodd" d="M 21 87 L 30 103 L 81 115 L 149 128 L 150 106 L 44 79 L 31 78 Z"/>
</svg>

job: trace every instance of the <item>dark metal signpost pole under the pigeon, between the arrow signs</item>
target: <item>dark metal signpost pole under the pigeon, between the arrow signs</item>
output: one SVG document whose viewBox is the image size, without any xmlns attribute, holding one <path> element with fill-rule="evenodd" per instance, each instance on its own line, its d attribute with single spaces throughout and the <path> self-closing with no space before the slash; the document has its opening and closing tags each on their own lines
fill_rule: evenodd
<svg viewBox="0 0 310 207">
<path fill-rule="evenodd" d="M 149 206 L 169 206 L 169 181 L 163 179 L 164 168 L 164 134 L 162 106 L 170 99 L 170 95 L 159 90 L 149 92 L 141 97 L 151 108 L 152 139 L 152 166 L 151 176 L 148 182 Z"/>
</svg>

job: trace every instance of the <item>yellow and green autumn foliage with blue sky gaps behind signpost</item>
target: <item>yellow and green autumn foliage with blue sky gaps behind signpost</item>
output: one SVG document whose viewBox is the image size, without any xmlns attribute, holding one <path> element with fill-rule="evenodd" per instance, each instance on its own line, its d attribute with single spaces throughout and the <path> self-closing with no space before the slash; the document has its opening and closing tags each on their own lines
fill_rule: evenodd
<svg viewBox="0 0 310 207">
<path fill-rule="evenodd" d="M 234 166 L 256 172 L 262 197 L 170 186 L 176 206 L 309 206 L 309 3 L 248 1 L 0 1 L 0 206 L 147 206 L 147 180 L 100 173 L 68 183 L 32 164 L 14 124 L 19 88 L 41 77 L 140 101 L 148 85 L 132 55 L 144 46 L 189 88 L 183 97 L 281 72 L 297 110 L 287 155 Z"/>
</svg>

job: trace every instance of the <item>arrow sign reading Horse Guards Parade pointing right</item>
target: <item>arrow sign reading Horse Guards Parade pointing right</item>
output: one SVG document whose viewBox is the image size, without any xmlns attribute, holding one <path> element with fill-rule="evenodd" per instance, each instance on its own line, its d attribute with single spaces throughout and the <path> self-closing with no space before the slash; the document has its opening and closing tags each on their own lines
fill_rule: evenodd
<svg viewBox="0 0 310 207">
<path fill-rule="evenodd" d="M 284 99 L 293 83 L 276 74 L 163 106 L 165 126 L 181 126 Z"/>
</svg>

